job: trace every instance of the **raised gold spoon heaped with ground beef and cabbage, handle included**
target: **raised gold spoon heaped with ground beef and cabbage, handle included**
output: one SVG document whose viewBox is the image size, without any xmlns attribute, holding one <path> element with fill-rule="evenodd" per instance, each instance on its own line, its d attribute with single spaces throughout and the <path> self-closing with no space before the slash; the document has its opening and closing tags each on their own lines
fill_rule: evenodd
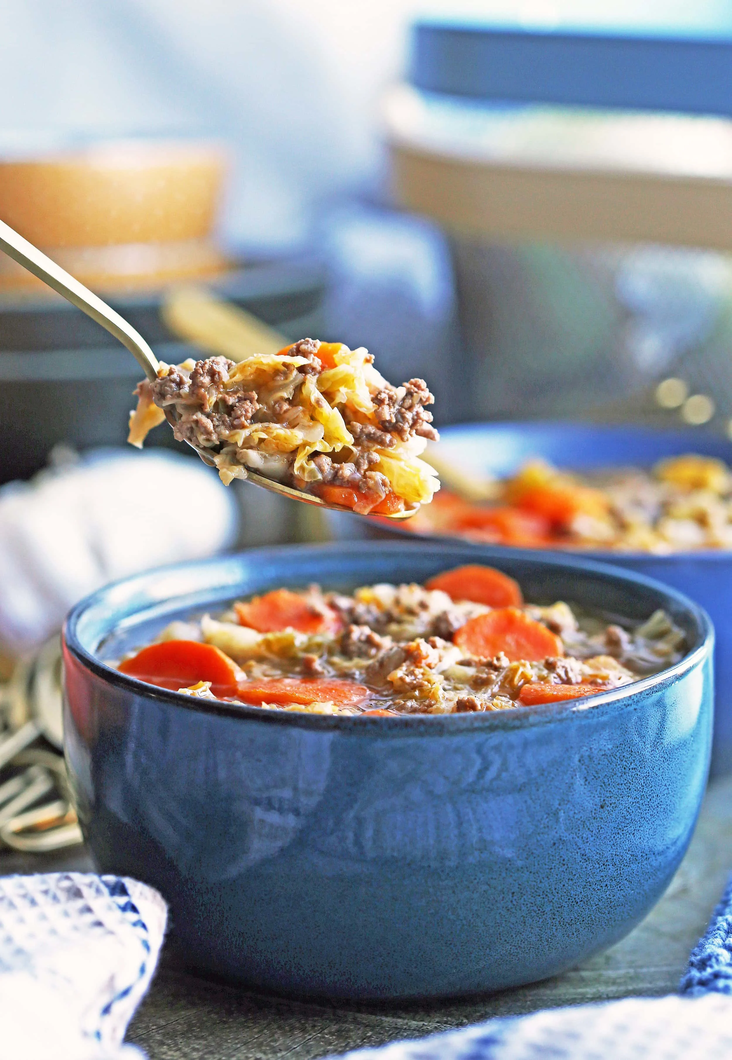
<svg viewBox="0 0 732 1060">
<path fill-rule="evenodd" d="M 101 298 L 2 222 L 0 249 L 137 358 L 145 378 L 129 421 L 133 445 L 168 420 L 226 484 L 242 478 L 307 504 L 396 519 L 414 515 L 439 489 L 420 459 L 438 437 L 423 379 L 395 387 L 365 349 L 311 338 L 238 361 L 167 365 Z"/>
</svg>

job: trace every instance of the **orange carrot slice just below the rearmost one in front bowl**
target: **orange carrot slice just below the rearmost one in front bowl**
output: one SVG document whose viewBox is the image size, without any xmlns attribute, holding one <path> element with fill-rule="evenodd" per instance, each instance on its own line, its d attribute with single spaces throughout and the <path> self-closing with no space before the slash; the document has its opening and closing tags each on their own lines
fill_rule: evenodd
<svg viewBox="0 0 732 1060">
<path fill-rule="evenodd" d="M 490 658 L 503 652 L 511 662 L 536 662 L 547 655 L 564 654 L 559 637 L 518 607 L 476 615 L 460 626 L 453 640 L 467 655 Z"/>
</svg>

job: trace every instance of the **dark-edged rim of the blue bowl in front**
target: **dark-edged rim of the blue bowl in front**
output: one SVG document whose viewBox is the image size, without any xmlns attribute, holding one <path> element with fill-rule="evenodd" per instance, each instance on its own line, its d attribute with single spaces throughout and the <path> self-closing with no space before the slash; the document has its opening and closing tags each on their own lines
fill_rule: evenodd
<svg viewBox="0 0 732 1060">
<path fill-rule="evenodd" d="M 354 554 L 378 555 L 383 553 L 384 548 L 397 551 L 399 549 L 403 549 L 404 547 L 405 546 L 397 542 L 350 542 L 328 545 L 285 545 L 266 549 L 251 549 L 250 551 L 238 554 L 246 559 L 254 558 L 256 560 L 259 558 L 263 563 L 272 560 L 281 560 L 283 564 L 286 564 L 289 556 L 301 555 L 303 553 L 329 556 L 333 556 L 334 554 L 337 555 L 338 553 L 343 553 L 345 556 L 352 556 Z M 416 549 L 425 554 L 434 555 L 434 550 L 428 545 L 420 546 L 418 543 L 414 543 L 408 547 L 409 551 Z M 470 558 L 474 550 L 465 549 L 465 551 L 466 558 Z M 502 558 L 516 559 L 518 561 L 525 560 L 525 553 L 527 551 L 529 550 L 492 548 L 490 546 L 486 546 L 483 549 L 486 562 L 491 559 L 500 562 Z M 103 662 L 101 659 L 92 655 L 92 653 L 81 643 L 76 635 L 76 629 L 82 616 L 91 607 L 103 602 L 105 596 L 108 596 L 111 591 L 117 590 L 119 587 L 125 585 L 132 586 L 135 583 L 141 584 L 160 576 L 170 577 L 178 571 L 190 570 L 196 567 L 215 567 L 226 563 L 227 561 L 230 562 L 236 559 L 237 555 L 224 555 L 210 560 L 190 561 L 188 563 L 157 567 L 154 570 L 145 571 L 142 575 L 134 575 L 129 578 L 120 579 L 117 582 L 112 582 L 109 585 L 98 589 L 95 593 L 92 593 L 81 600 L 69 612 L 62 634 L 67 649 L 75 655 L 79 661 L 82 662 L 88 670 L 91 670 L 92 673 L 108 682 L 112 686 L 126 689 L 137 695 L 144 695 L 147 699 L 161 700 L 168 704 L 186 710 L 193 710 L 199 713 L 220 714 L 229 718 L 239 718 L 242 720 L 256 720 L 266 724 L 292 725 L 296 728 L 310 728 L 318 730 L 346 729 L 350 732 L 363 731 L 373 735 L 374 728 L 384 732 L 393 731 L 400 734 L 403 734 L 405 729 L 415 734 L 419 731 L 434 734 L 435 731 L 440 731 L 440 729 L 448 734 L 465 732 L 466 729 L 470 730 L 472 728 L 511 729 L 537 724 L 548 724 L 572 718 L 577 719 L 588 714 L 594 714 L 598 709 L 612 709 L 613 707 L 616 707 L 620 703 L 622 703 L 622 701 L 627 700 L 629 696 L 643 695 L 651 690 L 656 691 L 667 684 L 676 682 L 684 673 L 694 669 L 705 655 L 711 654 L 714 647 L 714 626 L 712 625 L 711 619 L 702 607 L 694 603 L 694 601 L 684 596 L 684 594 L 678 593 L 676 589 L 663 585 L 662 583 L 655 581 L 652 578 L 646 578 L 644 575 L 638 575 L 634 571 L 612 567 L 606 563 L 585 561 L 583 559 L 577 559 L 575 556 L 568 560 L 563 556 L 557 556 L 555 552 L 551 551 L 530 551 L 530 559 L 531 561 L 538 561 L 548 567 L 569 568 L 570 572 L 572 570 L 581 570 L 583 573 L 597 575 L 600 579 L 610 578 L 614 581 L 621 581 L 628 585 L 635 585 L 641 588 L 650 588 L 656 593 L 660 593 L 667 599 L 673 600 L 692 617 L 694 624 L 696 625 L 698 642 L 690 652 L 679 659 L 678 662 L 675 662 L 673 666 L 660 671 L 657 674 L 642 677 L 639 681 L 632 682 L 630 685 L 623 685 L 620 688 L 609 689 L 606 692 L 599 692 L 596 695 L 568 701 L 565 704 L 561 705 L 540 704 L 533 707 L 515 707 L 506 710 L 476 711 L 460 714 L 395 714 L 389 718 L 369 718 L 359 714 L 311 714 L 306 713 L 304 711 L 264 709 L 262 707 L 250 706 L 248 704 L 226 703 L 220 700 L 202 700 L 191 695 L 185 695 L 180 692 L 170 691 L 169 689 L 157 688 L 154 685 L 149 685 L 143 681 L 139 681 L 137 677 L 120 673 L 119 670 L 114 669 L 114 667 L 108 666 L 106 662 Z M 286 583 L 286 576 L 283 577 L 283 581 Z M 216 586 L 212 585 L 211 588 L 215 589 Z M 222 586 L 222 588 L 226 588 L 226 586 Z M 190 594 L 187 595 L 190 596 Z M 236 589 L 233 595 L 236 595 Z M 185 598 L 186 594 L 181 595 L 180 599 L 184 600 Z M 175 599 L 175 596 L 169 597 L 169 600 L 171 601 Z M 114 629 L 115 625 L 110 626 L 107 634 L 111 633 Z"/>
</svg>

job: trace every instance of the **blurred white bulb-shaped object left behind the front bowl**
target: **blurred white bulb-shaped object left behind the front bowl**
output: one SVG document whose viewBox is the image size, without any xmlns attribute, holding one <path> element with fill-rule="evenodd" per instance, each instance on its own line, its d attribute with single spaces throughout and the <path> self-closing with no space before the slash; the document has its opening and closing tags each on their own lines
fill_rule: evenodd
<svg viewBox="0 0 732 1060">
<path fill-rule="evenodd" d="M 92 450 L 0 489 L 0 646 L 29 651 L 106 582 L 231 545 L 233 495 L 197 457 Z"/>
</svg>

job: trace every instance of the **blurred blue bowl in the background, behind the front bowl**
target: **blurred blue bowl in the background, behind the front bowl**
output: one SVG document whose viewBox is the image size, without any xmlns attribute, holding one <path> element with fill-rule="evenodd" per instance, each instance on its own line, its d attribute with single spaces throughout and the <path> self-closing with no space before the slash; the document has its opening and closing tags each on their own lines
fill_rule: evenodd
<svg viewBox="0 0 732 1060">
<path fill-rule="evenodd" d="M 649 467 L 663 457 L 700 453 L 732 464 L 732 444 L 703 431 L 652 430 L 585 423 L 486 423 L 440 429 L 446 455 L 477 474 L 513 474 L 531 457 L 543 457 L 559 467 L 591 471 L 629 465 Z M 330 513 L 332 516 L 332 513 Z M 356 525 L 358 524 L 358 525 Z M 368 520 L 354 515 L 332 518 L 336 536 L 380 537 L 412 534 L 393 524 L 374 531 Z M 435 541 L 455 541 L 440 537 Z M 441 548 L 442 546 L 435 547 Z M 535 555 L 534 550 L 521 550 Z M 732 552 L 695 551 L 673 555 L 648 552 L 588 551 L 562 549 L 562 554 L 582 555 L 657 578 L 686 594 L 709 613 L 716 633 L 714 659 L 716 704 L 712 774 L 732 773 Z"/>
</svg>

